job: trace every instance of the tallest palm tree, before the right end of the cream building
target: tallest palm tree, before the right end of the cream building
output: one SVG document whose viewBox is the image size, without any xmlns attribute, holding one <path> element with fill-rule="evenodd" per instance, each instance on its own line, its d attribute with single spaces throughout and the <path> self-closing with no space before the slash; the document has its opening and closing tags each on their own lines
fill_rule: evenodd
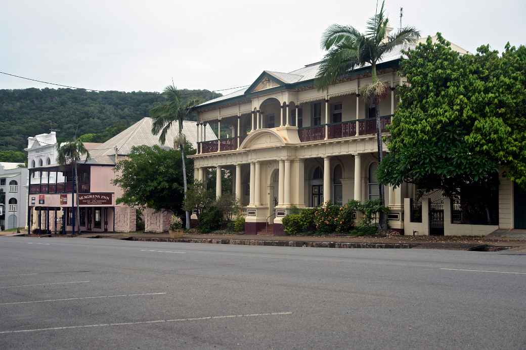
<svg viewBox="0 0 526 350">
<path fill-rule="evenodd" d="M 395 34 L 389 34 L 389 18 L 385 16 L 385 1 L 380 11 L 367 21 L 366 32 L 360 33 L 352 26 L 333 24 L 327 28 L 321 37 L 321 47 L 327 53 L 323 57 L 316 75 L 316 86 L 326 90 L 338 79 L 345 78 L 356 68 L 369 64 L 371 66 L 372 83 L 361 89 L 371 105 L 378 106 L 380 97 L 385 94 L 387 84 L 378 79 L 376 65 L 382 56 L 391 52 L 396 46 L 413 43 L 420 33 L 413 27 L 400 28 Z M 378 108 L 376 110 L 376 132 L 378 146 L 378 162 L 382 161 L 382 130 Z M 357 116 L 358 118 L 358 116 Z M 383 186 L 380 186 L 380 201 L 384 203 Z M 380 213 L 380 229 L 387 229 L 385 213 Z"/>
</svg>

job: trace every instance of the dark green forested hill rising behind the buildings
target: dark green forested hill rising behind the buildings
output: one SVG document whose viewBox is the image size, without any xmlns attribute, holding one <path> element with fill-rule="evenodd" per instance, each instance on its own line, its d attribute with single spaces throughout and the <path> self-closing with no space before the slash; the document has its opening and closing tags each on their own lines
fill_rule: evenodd
<svg viewBox="0 0 526 350">
<path fill-rule="evenodd" d="M 184 99 L 221 96 L 208 90 L 181 90 Z M 159 92 L 94 92 L 82 89 L 0 89 L 0 161 L 24 161 L 27 137 L 58 129 L 58 141 L 75 135 L 104 142 L 162 104 Z M 195 120 L 195 116 L 190 119 Z"/>
</svg>

